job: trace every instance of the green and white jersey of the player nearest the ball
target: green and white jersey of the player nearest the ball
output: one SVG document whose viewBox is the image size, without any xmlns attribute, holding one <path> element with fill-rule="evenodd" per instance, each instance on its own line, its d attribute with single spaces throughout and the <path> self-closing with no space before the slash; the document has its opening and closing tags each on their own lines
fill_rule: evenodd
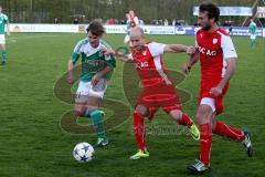
<svg viewBox="0 0 265 177">
<path fill-rule="evenodd" d="M 99 41 L 97 48 L 93 48 L 88 39 L 80 41 L 72 54 L 72 61 L 75 64 L 80 56 L 82 58 L 81 81 L 89 82 L 92 77 L 104 70 L 106 66 L 115 67 L 116 61 L 113 55 L 104 55 L 102 49 L 112 49 L 104 40 Z M 113 73 L 107 73 L 103 77 L 109 80 Z"/>
</svg>

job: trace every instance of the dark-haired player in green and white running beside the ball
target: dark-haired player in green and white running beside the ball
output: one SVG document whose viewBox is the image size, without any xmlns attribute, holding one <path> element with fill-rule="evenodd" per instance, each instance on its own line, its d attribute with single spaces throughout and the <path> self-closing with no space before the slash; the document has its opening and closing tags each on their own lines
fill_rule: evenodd
<svg viewBox="0 0 265 177">
<path fill-rule="evenodd" d="M 93 21 L 88 28 L 87 38 L 80 41 L 68 61 L 67 82 L 74 82 L 74 65 L 82 58 L 82 74 L 75 98 L 75 114 L 91 117 L 97 133 L 96 146 L 103 147 L 108 144 L 104 129 L 103 114 L 98 104 L 104 96 L 107 81 L 110 79 L 116 66 L 115 58 L 104 54 L 110 46 L 102 40 L 104 27 L 98 21 Z"/>
</svg>

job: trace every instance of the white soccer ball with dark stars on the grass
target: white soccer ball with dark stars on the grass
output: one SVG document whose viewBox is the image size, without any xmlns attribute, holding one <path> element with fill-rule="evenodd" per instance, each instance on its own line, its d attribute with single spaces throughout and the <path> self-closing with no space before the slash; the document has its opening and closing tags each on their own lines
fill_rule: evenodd
<svg viewBox="0 0 265 177">
<path fill-rule="evenodd" d="M 95 150 L 88 143 L 78 143 L 73 150 L 74 158 L 80 163 L 87 163 L 93 159 Z"/>
</svg>

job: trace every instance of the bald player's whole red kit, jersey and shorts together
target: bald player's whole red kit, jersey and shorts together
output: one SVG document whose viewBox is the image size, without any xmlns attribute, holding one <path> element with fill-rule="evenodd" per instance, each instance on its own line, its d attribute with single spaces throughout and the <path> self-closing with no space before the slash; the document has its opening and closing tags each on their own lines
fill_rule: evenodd
<svg viewBox="0 0 265 177">
<path fill-rule="evenodd" d="M 148 107 L 151 113 L 149 119 L 151 119 L 160 107 L 169 114 L 172 110 L 181 110 L 181 105 L 174 85 L 166 84 L 163 79 L 167 76 L 162 59 L 165 44 L 150 42 L 145 46 L 146 50 L 142 53 L 132 52 L 130 60 L 135 63 L 144 86 L 136 105 L 141 104 Z"/>
</svg>

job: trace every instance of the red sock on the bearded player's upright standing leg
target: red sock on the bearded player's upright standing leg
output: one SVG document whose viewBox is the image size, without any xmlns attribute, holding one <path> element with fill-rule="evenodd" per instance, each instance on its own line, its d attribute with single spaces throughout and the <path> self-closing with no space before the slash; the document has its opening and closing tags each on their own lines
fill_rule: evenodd
<svg viewBox="0 0 265 177">
<path fill-rule="evenodd" d="M 210 124 L 200 125 L 200 133 L 201 133 L 201 162 L 205 166 L 209 166 L 212 146 L 212 133 Z"/>
</svg>

